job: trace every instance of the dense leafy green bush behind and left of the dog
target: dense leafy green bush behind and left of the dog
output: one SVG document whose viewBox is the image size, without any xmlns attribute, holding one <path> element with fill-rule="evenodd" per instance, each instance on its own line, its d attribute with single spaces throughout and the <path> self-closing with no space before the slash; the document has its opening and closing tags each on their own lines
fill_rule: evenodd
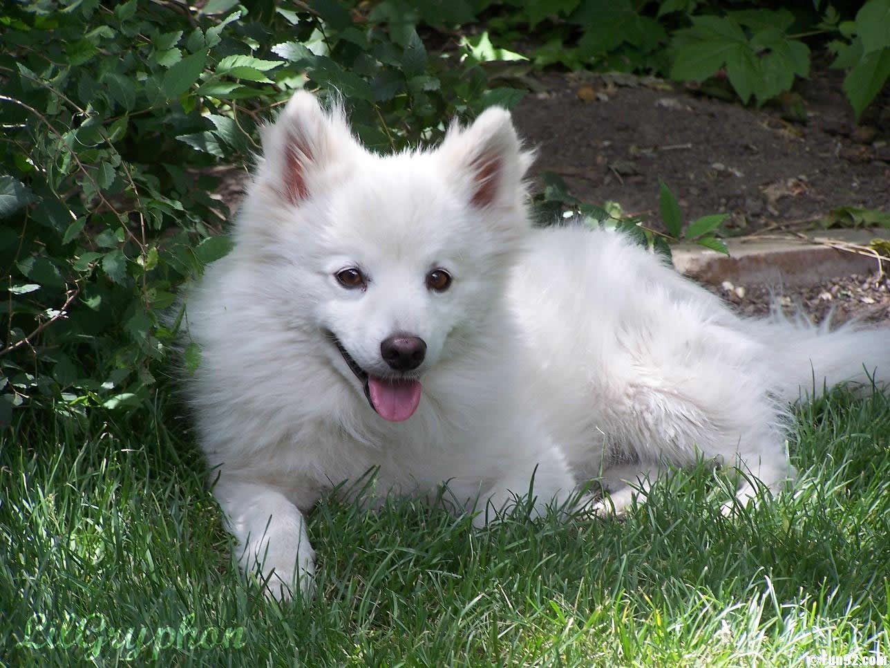
<svg viewBox="0 0 890 668">
<path fill-rule="evenodd" d="M 380 149 L 522 95 L 487 87 L 473 45 L 428 53 L 386 4 L 39 0 L 4 4 L 0 26 L 4 422 L 25 404 L 150 409 L 174 338 L 158 314 L 228 249 L 211 167 L 249 161 L 296 88 L 343 94 Z"/>
</svg>

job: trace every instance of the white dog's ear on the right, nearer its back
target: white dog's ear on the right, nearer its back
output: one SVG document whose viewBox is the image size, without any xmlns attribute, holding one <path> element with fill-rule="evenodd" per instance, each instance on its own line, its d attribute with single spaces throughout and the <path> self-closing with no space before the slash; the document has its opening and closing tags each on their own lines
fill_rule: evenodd
<svg viewBox="0 0 890 668">
<path fill-rule="evenodd" d="M 476 207 L 522 203 L 532 154 L 522 151 L 507 110 L 492 107 L 467 128 L 452 126 L 439 151 Z"/>
</svg>

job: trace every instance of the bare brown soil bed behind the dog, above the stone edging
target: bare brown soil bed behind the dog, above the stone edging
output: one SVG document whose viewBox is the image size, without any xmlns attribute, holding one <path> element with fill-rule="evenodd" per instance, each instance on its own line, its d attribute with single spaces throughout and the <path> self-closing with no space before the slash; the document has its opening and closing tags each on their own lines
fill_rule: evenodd
<svg viewBox="0 0 890 668">
<path fill-rule="evenodd" d="M 514 112 L 538 148 L 535 173 L 562 175 L 589 203 L 618 201 L 655 223 L 661 177 L 687 219 L 727 212 L 738 233 L 840 205 L 890 208 L 890 93 L 856 127 L 838 72 L 798 86 L 805 124 L 659 79 L 547 74 L 538 85 Z"/>
</svg>

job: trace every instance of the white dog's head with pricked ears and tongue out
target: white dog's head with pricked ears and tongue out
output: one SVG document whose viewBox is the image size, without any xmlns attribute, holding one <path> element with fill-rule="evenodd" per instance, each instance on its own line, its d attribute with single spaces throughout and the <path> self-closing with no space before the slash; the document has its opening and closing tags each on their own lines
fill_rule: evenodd
<svg viewBox="0 0 890 668">
<path fill-rule="evenodd" d="M 407 420 L 425 372 L 473 345 L 503 301 L 530 227 L 529 164 L 506 110 L 452 126 L 432 151 L 379 156 L 341 110 L 297 93 L 263 133 L 239 252 L 344 380 Z"/>
</svg>

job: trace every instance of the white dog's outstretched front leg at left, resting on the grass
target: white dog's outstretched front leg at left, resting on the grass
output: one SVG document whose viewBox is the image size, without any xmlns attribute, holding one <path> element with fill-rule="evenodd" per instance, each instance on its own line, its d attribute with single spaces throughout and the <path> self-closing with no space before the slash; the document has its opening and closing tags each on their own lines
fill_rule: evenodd
<svg viewBox="0 0 890 668">
<path fill-rule="evenodd" d="M 296 589 L 312 591 L 315 551 L 303 513 L 271 485 L 223 477 L 214 495 L 238 539 L 234 556 L 246 574 L 258 574 L 266 594 L 289 599 Z"/>
</svg>

